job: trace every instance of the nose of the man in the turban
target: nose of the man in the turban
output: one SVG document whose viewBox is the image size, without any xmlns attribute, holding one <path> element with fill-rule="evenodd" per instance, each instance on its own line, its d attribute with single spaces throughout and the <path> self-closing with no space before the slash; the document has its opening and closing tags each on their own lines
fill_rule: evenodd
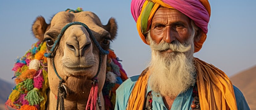
<svg viewBox="0 0 256 110">
<path fill-rule="evenodd" d="M 166 43 L 171 43 L 176 40 L 174 32 L 172 31 L 171 27 L 169 26 L 165 27 L 165 34 L 164 34 L 163 40 Z"/>
</svg>

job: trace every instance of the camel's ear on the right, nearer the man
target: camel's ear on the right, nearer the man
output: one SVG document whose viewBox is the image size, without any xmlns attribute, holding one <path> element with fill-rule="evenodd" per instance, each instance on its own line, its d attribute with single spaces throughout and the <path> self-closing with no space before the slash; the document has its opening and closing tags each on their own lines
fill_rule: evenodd
<svg viewBox="0 0 256 110">
<path fill-rule="evenodd" d="M 110 39 L 116 38 L 117 24 L 115 18 L 110 18 L 107 25 L 103 25 L 103 28 L 110 33 Z"/>
</svg>

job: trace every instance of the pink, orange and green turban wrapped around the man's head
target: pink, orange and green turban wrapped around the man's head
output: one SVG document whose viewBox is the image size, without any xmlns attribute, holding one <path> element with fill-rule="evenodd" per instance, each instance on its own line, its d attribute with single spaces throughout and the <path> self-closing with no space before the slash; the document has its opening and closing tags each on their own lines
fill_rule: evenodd
<svg viewBox="0 0 256 110">
<path fill-rule="evenodd" d="M 211 15 L 208 0 L 132 0 L 132 16 L 137 22 L 140 38 L 146 44 L 148 43 L 146 42 L 144 32 L 149 30 L 152 18 L 159 6 L 179 10 L 201 28 L 201 38 L 199 42 L 194 42 L 194 52 L 198 52 L 202 48 L 208 32 L 207 26 Z"/>
</svg>

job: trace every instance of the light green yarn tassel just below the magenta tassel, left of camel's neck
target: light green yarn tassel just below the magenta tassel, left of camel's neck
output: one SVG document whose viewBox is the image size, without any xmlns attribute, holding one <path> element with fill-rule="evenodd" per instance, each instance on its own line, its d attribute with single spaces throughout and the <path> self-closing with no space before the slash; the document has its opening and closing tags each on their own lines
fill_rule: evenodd
<svg viewBox="0 0 256 110">
<path fill-rule="evenodd" d="M 29 102 L 29 105 L 39 105 L 44 100 L 44 97 L 41 96 L 38 88 L 34 88 L 27 93 L 25 99 Z"/>
</svg>

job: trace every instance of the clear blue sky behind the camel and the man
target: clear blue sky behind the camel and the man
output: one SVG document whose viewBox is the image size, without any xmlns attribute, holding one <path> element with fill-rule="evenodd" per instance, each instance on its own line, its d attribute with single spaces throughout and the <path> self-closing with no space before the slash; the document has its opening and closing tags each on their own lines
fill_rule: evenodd
<svg viewBox="0 0 256 110">
<path fill-rule="evenodd" d="M 150 48 L 136 30 L 130 13 L 130 0 L 34 0 L 0 1 L 0 78 L 14 82 L 14 60 L 23 56 L 37 41 L 31 34 L 35 18 L 42 15 L 47 22 L 55 13 L 82 7 L 97 14 L 103 24 L 110 17 L 118 23 L 117 39 L 111 48 L 123 60 L 128 76 L 140 74 L 150 60 Z M 215 65 L 228 76 L 256 65 L 256 1 L 210 0 L 211 18 L 207 39 L 195 57 Z"/>
</svg>

